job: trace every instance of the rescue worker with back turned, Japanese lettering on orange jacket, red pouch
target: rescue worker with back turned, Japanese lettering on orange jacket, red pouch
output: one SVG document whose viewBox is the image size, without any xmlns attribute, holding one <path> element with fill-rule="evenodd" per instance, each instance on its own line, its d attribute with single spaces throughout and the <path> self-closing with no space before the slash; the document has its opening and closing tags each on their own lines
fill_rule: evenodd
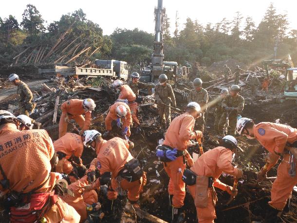
<svg viewBox="0 0 297 223">
<path fill-rule="evenodd" d="M 59 174 L 50 172 L 57 157 L 48 133 L 19 131 L 18 125 L 14 115 L 0 110 L 0 203 L 10 221 L 79 223 L 75 209 L 55 194 Z"/>
</svg>

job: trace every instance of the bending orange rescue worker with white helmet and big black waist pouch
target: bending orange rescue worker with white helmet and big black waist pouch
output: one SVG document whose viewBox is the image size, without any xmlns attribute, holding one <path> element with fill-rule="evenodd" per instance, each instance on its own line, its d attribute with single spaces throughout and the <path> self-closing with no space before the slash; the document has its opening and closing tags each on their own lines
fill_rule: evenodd
<svg viewBox="0 0 297 223">
<path fill-rule="evenodd" d="M 95 130 L 90 135 L 86 131 L 84 135 L 85 143 L 96 148 L 97 168 L 101 175 L 96 182 L 85 187 L 86 191 L 107 184 L 110 181 L 111 173 L 111 185 L 107 193 L 109 203 L 105 208 L 106 212 L 111 213 L 112 201 L 117 198 L 118 193 L 125 194 L 126 190 L 128 190 L 129 202 L 137 207 L 137 201 L 147 182 L 147 177 L 140 168 L 138 160 L 134 159 L 129 152 L 132 142 L 129 143 L 118 137 L 106 141 Z"/>
</svg>

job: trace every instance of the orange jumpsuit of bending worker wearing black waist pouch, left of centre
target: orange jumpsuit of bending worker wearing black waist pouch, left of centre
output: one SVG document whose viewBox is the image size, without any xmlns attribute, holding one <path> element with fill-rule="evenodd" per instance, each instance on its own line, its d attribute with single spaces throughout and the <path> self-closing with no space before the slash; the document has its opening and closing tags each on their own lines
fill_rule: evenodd
<svg viewBox="0 0 297 223">
<path fill-rule="evenodd" d="M 116 178 L 119 171 L 124 168 L 124 164 L 133 159 L 128 148 L 128 142 L 118 137 L 112 138 L 109 141 L 103 140 L 96 148 L 98 152 L 97 168 L 100 174 L 111 172 L 112 175 L 111 188 L 107 194 L 109 200 L 117 198 L 117 188 L 120 187 L 122 190 L 128 190 L 128 199 L 130 201 L 138 201 L 139 194 L 147 182 L 147 177 L 144 173 L 138 181 L 129 182 L 126 179 L 122 179 L 119 183 L 120 185 L 118 185 Z"/>
</svg>

